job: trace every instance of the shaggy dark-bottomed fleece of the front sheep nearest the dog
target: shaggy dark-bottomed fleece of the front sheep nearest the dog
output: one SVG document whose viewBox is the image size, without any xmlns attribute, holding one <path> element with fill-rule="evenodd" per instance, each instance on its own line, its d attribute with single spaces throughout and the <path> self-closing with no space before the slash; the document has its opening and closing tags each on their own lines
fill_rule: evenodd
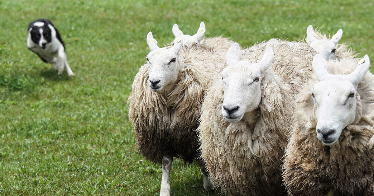
<svg viewBox="0 0 374 196">
<path fill-rule="evenodd" d="M 183 47 L 179 74 L 171 90 L 148 87 L 147 64 L 141 66 L 129 96 L 129 119 L 141 155 L 154 163 L 163 156 L 192 162 L 198 157 L 196 128 L 210 78 L 224 67 L 224 56 L 208 47 Z"/>
</svg>

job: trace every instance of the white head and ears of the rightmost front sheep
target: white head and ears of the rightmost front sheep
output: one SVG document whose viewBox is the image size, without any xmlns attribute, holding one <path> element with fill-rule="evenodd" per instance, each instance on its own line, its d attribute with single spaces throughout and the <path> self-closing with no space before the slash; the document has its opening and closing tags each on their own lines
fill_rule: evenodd
<svg viewBox="0 0 374 196">
<path fill-rule="evenodd" d="M 356 118 L 357 86 L 370 66 L 367 55 L 365 62 L 348 75 L 332 75 L 327 72 L 327 62 L 322 55 L 313 59 L 313 69 L 318 83 L 312 88 L 316 109 L 317 138 L 325 145 L 334 144 L 341 131 Z"/>
</svg>

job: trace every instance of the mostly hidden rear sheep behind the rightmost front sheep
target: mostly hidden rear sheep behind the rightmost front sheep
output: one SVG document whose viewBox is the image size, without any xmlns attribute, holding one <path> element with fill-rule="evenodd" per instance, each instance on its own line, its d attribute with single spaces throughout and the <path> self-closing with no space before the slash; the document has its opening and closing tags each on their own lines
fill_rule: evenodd
<svg viewBox="0 0 374 196">
<path fill-rule="evenodd" d="M 317 50 L 325 60 L 353 59 L 356 57 L 356 54 L 347 44 L 338 44 L 343 36 L 342 29 L 339 29 L 332 38 L 327 38 L 325 34 L 322 35 L 321 32 L 314 31 L 312 25 L 309 25 L 306 34 L 306 42 L 310 47 Z"/>
</svg>

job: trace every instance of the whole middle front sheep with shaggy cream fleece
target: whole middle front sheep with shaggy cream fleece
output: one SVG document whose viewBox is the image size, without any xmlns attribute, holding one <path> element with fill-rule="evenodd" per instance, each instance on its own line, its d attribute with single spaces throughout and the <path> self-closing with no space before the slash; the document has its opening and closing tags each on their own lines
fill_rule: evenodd
<svg viewBox="0 0 374 196">
<path fill-rule="evenodd" d="M 242 51 L 237 43 L 230 47 L 222 79 L 215 78 L 205 96 L 197 129 L 201 157 L 221 191 L 286 195 L 281 158 L 294 94 L 313 73 L 316 53 L 305 43 L 278 39 Z"/>
</svg>

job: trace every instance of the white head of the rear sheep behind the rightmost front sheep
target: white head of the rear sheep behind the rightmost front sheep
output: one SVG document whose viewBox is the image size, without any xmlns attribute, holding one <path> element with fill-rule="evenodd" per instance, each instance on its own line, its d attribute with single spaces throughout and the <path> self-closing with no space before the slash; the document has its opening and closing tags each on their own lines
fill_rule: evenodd
<svg viewBox="0 0 374 196">
<path fill-rule="evenodd" d="M 339 43 L 341 36 L 343 35 L 343 30 L 339 29 L 334 36 L 332 36 L 331 40 L 318 40 L 313 35 L 313 27 L 309 25 L 306 34 L 307 39 L 310 42 L 310 47 L 315 49 L 319 54 L 321 54 L 325 60 L 335 60 L 335 50 L 336 45 Z"/>
</svg>

